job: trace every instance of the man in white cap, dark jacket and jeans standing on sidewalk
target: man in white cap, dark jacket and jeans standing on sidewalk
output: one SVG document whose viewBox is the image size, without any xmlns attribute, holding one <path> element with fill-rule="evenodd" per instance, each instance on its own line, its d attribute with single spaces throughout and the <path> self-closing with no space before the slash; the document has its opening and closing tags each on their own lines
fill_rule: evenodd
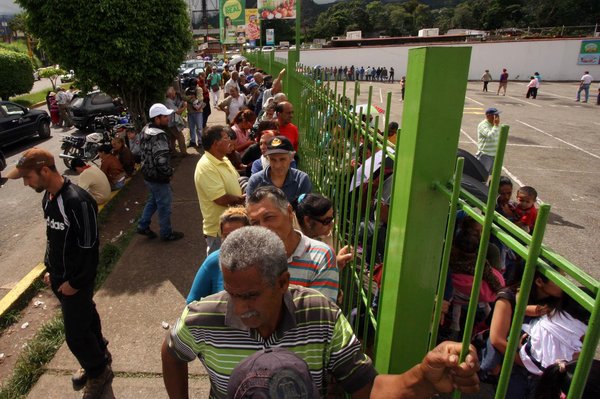
<svg viewBox="0 0 600 399">
<path fill-rule="evenodd" d="M 148 238 L 156 238 L 156 233 L 150 229 L 152 215 L 158 211 L 160 238 L 164 241 L 175 241 L 183 238 L 183 233 L 171 228 L 171 151 L 167 128 L 171 114 L 174 111 L 165 105 L 157 103 L 150 107 L 151 122 L 142 130 L 140 148 L 142 151 L 142 174 L 148 187 L 149 195 L 142 217 L 138 222 L 138 234 Z"/>
</svg>

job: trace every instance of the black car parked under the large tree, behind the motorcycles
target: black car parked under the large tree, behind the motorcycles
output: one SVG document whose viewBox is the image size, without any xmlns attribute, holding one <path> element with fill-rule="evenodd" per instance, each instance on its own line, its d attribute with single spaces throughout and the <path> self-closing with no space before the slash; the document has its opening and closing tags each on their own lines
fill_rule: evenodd
<svg viewBox="0 0 600 399">
<path fill-rule="evenodd" d="M 79 130 L 94 130 L 94 118 L 102 115 L 120 115 L 123 106 L 119 101 L 99 90 L 71 101 L 70 113 L 73 124 Z"/>
</svg>

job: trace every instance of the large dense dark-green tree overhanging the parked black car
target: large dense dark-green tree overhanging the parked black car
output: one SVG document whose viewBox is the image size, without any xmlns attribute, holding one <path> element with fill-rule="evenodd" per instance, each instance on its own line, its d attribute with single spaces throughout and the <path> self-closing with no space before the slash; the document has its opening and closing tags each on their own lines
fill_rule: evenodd
<svg viewBox="0 0 600 399">
<path fill-rule="evenodd" d="M 75 70 L 84 87 L 121 97 L 136 122 L 164 99 L 192 46 L 184 0 L 17 2 L 50 58 Z"/>
</svg>

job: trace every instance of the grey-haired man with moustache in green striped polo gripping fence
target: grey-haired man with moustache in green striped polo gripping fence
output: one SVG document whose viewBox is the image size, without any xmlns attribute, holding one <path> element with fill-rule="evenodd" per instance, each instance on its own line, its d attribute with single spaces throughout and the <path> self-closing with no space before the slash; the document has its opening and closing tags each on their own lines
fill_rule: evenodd
<svg viewBox="0 0 600 399">
<path fill-rule="evenodd" d="M 453 388 L 479 389 L 475 350 L 471 347 L 459 364 L 459 343 L 440 344 L 404 374 L 378 376 L 341 310 L 310 288 L 290 285 L 284 243 L 268 229 L 242 227 L 231 233 L 221 248 L 220 265 L 225 291 L 187 305 L 163 342 L 163 380 L 170 398 L 189 396 L 188 362 L 196 358 L 208 370 L 215 399 L 239 398 L 253 392 L 251 386 L 271 385 L 256 378 L 271 379 L 274 368 L 291 368 L 293 374 L 279 376 L 293 380 L 283 388 L 287 395 L 264 397 L 324 398 L 331 377 L 354 399 L 429 398 Z M 274 355 L 259 361 L 265 349 Z M 257 352 L 251 358 L 254 366 L 244 361 Z M 255 372 L 265 366 L 271 371 Z M 305 395 L 292 396 L 294 389 Z M 263 397 L 264 391 L 254 393 L 241 397 Z"/>
</svg>

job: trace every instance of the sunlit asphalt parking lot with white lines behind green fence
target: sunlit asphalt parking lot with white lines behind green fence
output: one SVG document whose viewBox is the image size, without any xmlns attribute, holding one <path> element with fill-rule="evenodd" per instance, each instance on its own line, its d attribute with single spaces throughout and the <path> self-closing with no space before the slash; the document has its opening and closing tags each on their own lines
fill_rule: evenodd
<svg viewBox="0 0 600 399">
<path fill-rule="evenodd" d="M 348 86 L 351 96 L 353 84 Z M 496 95 L 497 88 L 492 82 L 483 93 L 480 82 L 468 83 L 459 147 L 475 153 L 485 109 L 501 110 L 501 122 L 510 126 L 503 174 L 515 187 L 535 187 L 539 199 L 552 206 L 544 244 L 600 279 L 598 83 L 592 84 L 587 104 L 575 102 L 577 83 L 542 81 L 536 100 L 525 98 L 525 82 L 510 82 L 506 96 Z M 388 92 L 391 120 L 402 126 L 398 83 L 373 83 L 373 104 L 385 108 Z M 367 93 L 368 84 L 362 83 L 357 103 L 366 103 Z"/>
</svg>

